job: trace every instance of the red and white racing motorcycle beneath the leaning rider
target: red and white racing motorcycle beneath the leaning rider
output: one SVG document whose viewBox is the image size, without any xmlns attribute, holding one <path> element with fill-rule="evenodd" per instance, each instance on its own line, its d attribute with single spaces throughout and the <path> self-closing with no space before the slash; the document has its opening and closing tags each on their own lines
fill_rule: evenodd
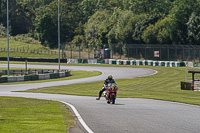
<svg viewBox="0 0 200 133">
<path fill-rule="evenodd" d="M 117 84 L 115 83 L 109 83 L 106 87 L 106 91 L 104 91 L 104 97 L 106 98 L 106 101 L 108 104 L 112 103 L 115 104 L 115 100 L 117 97 Z"/>
</svg>

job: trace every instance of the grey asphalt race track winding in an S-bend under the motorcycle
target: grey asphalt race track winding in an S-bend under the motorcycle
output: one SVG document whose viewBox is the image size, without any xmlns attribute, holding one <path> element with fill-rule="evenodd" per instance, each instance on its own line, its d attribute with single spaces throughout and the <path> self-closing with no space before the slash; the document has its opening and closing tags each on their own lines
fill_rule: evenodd
<svg viewBox="0 0 200 133">
<path fill-rule="evenodd" d="M 0 67 L 7 67 L 0 64 Z M 24 65 L 11 65 L 24 67 Z M 54 68 L 57 66 L 29 65 L 29 68 Z M 107 104 L 105 99 L 42 93 L 12 92 L 32 88 L 102 81 L 112 74 L 115 79 L 134 78 L 155 74 L 151 69 L 124 67 L 61 66 L 61 69 L 101 71 L 102 75 L 48 83 L 0 85 L 0 96 L 27 97 L 56 100 L 73 105 L 86 125 L 94 133 L 199 133 L 200 107 L 176 102 L 151 99 L 117 98 L 116 104 Z M 101 89 L 101 88 L 100 88 Z M 97 92 L 98 93 L 98 92 Z M 120 88 L 119 93 L 120 95 Z M 78 119 L 78 117 L 77 117 Z M 79 123 L 79 121 L 77 121 Z M 87 132 L 79 123 L 80 128 Z"/>
</svg>

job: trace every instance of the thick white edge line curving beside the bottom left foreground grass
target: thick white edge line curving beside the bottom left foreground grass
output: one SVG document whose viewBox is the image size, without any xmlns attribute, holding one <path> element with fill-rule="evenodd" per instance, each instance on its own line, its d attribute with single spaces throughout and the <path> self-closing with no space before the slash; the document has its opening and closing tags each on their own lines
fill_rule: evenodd
<svg viewBox="0 0 200 133">
<path fill-rule="evenodd" d="M 79 120 L 79 122 L 82 124 L 82 126 L 85 128 L 85 130 L 86 130 L 88 133 L 94 133 L 94 132 L 88 127 L 88 125 L 84 122 L 84 120 L 82 119 L 81 115 L 78 113 L 77 109 L 76 109 L 73 105 L 71 105 L 71 104 L 69 104 L 69 103 L 66 103 L 66 102 L 64 102 L 64 101 L 59 101 L 59 102 L 62 102 L 62 103 L 64 103 L 64 104 L 68 105 L 68 106 L 74 111 L 75 116 L 77 117 L 77 119 Z"/>
</svg>

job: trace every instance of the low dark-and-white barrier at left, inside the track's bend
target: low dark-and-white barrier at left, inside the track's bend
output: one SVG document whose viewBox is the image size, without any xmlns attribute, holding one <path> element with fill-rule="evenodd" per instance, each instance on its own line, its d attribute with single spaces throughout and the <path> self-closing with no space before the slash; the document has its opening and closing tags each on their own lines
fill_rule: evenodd
<svg viewBox="0 0 200 133">
<path fill-rule="evenodd" d="M 55 79 L 55 78 L 63 78 L 63 77 L 70 76 L 70 71 L 68 70 L 64 70 L 62 72 L 58 72 L 58 71 L 56 72 L 54 70 L 50 70 L 50 72 L 55 72 L 55 73 L 41 74 L 42 71 L 44 70 L 36 70 L 34 71 L 35 74 L 32 74 L 32 75 L 0 77 L 0 83 Z M 47 72 L 47 70 L 45 71 Z M 25 72 L 25 70 L 10 70 L 11 74 L 21 74 L 23 72 Z M 2 74 L 6 75 L 7 70 L 2 70 Z"/>
</svg>

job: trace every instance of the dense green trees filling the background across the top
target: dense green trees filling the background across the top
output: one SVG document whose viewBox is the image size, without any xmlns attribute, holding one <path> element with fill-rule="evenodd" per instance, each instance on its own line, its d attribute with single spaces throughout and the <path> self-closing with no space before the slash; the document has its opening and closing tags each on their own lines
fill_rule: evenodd
<svg viewBox="0 0 200 133">
<path fill-rule="evenodd" d="M 6 31 L 6 1 L 0 29 Z M 10 34 L 57 47 L 58 0 L 9 0 Z M 194 44 L 200 42 L 200 0 L 60 0 L 61 43 Z M 5 35 L 1 31 L 1 36 Z"/>
</svg>

